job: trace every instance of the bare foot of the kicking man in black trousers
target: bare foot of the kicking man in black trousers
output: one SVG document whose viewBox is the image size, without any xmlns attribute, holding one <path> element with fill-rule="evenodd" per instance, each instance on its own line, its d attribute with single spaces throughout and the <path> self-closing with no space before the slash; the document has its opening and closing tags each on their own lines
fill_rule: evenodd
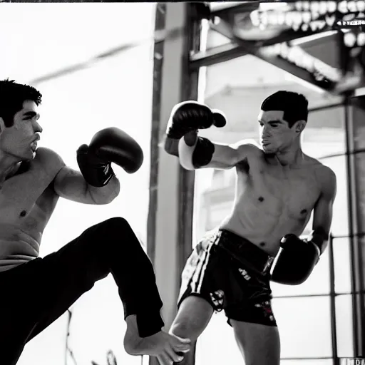
<svg viewBox="0 0 365 365">
<path fill-rule="evenodd" d="M 185 352 L 190 351 L 190 339 L 180 339 L 180 337 L 164 331 L 152 336 L 140 337 L 135 316 L 129 316 L 126 322 L 124 348 L 130 355 L 163 355 L 164 358 L 178 362 L 183 360 Z"/>
</svg>

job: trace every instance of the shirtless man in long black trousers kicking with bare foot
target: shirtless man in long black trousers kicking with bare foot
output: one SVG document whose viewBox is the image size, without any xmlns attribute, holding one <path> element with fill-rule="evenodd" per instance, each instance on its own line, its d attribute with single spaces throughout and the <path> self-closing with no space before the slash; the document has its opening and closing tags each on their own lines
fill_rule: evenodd
<svg viewBox="0 0 365 365">
<path fill-rule="evenodd" d="M 137 171 L 143 163 L 138 143 L 117 128 L 101 130 L 77 151 L 80 173 L 53 150 L 37 149 L 41 94 L 35 88 L 0 81 L 0 101 L 1 364 L 16 364 L 28 341 L 109 273 L 123 302 L 125 350 L 182 359 L 190 340 L 161 331 L 163 303 L 153 266 L 125 219 L 110 218 L 58 252 L 38 257 L 58 198 L 111 202 L 120 189 L 111 163 Z"/>
</svg>

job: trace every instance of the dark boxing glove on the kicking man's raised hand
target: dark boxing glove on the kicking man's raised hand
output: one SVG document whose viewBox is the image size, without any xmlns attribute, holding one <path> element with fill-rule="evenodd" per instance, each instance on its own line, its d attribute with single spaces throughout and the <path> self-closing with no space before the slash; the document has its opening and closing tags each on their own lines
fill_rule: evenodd
<svg viewBox="0 0 365 365">
<path fill-rule="evenodd" d="M 101 187 L 114 176 L 111 163 L 127 173 L 135 173 L 143 163 L 143 151 L 130 135 L 112 127 L 96 133 L 89 145 L 81 145 L 77 162 L 86 182 Z"/>
</svg>

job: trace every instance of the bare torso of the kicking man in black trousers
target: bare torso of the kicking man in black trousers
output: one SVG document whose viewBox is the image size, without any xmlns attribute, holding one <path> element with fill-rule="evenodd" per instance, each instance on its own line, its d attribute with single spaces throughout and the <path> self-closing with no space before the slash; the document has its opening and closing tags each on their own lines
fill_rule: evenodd
<svg viewBox="0 0 365 365">
<path fill-rule="evenodd" d="M 29 168 L 2 185 L 0 272 L 38 257 L 43 230 L 58 201 L 51 183 L 62 167 L 56 153 L 38 148 Z"/>
</svg>

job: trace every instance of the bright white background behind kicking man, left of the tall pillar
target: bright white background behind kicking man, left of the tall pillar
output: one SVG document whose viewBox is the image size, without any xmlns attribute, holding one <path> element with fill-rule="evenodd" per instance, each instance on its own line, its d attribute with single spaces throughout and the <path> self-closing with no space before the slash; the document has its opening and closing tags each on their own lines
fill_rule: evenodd
<svg viewBox="0 0 365 365">
<path fill-rule="evenodd" d="M 0 4 L 0 78 L 34 78 L 87 61 L 115 46 L 153 36 L 155 4 Z M 90 225 L 123 216 L 145 242 L 148 214 L 153 43 L 108 58 L 78 73 L 43 82 L 40 145 L 53 148 L 77 168 L 76 149 L 97 130 L 117 126 L 145 151 L 134 175 L 115 168 L 120 196 L 93 207 L 60 200 L 43 236 L 41 256 L 58 250 Z M 26 304 L 25 304 L 26 305 Z M 31 341 L 19 365 L 65 365 L 66 315 Z M 123 307 L 111 276 L 73 306 L 70 344 L 77 365 L 106 365 L 112 349 L 118 364 L 140 364 L 123 351 Z M 69 360 L 67 365 L 75 365 Z"/>
</svg>

